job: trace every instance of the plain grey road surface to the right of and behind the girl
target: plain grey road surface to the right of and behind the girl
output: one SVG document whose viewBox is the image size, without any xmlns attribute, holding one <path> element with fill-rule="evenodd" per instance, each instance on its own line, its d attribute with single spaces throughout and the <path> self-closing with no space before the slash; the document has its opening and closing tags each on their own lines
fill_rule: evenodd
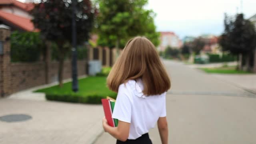
<svg viewBox="0 0 256 144">
<path fill-rule="evenodd" d="M 255 94 L 181 62 L 164 64 L 172 82 L 166 96 L 170 144 L 256 143 Z M 149 134 L 161 143 L 157 126 Z M 103 133 L 94 144 L 102 143 L 115 139 Z"/>
</svg>

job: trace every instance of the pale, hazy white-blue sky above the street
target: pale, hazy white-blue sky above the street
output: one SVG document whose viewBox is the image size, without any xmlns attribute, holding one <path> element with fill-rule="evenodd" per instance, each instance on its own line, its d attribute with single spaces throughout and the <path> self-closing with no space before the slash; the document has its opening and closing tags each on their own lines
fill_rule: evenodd
<svg viewBox="0 0 256 144">
<path fill-rule="evenodd" d="M 146 8 L 156 13 L 158 31 L 172 31 L 183 38 L 220 35 L 225 12 L 228 15 L 243 12 L 245 18 L 250 18 L 256 14 L 256 0 L 148 0 Z"/>
</svg>

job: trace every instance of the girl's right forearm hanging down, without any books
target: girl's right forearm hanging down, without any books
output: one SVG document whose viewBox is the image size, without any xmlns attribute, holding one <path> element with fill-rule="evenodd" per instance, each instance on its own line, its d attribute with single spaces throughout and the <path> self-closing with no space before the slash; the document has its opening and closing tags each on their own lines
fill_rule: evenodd
<svg viewBox="0 0 256 144">
<path fill-rule="evenodd" d="M 166 117 L 160 117 L 157 121 L 157 126 L 162 144 L 168 144 L 168 124 Z"/>
</svg>

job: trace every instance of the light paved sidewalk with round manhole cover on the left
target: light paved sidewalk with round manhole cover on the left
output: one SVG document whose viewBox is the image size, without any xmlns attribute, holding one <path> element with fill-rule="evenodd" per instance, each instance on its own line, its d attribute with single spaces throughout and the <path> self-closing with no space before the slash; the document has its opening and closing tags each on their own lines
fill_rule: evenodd
<svg viewBox="0 0 256 144">
<path fill-rule="evenodd" d="M 33 93 L 56 84 L 36 86 L 0 99 L 0 117 L 32 117 L 20 122 L 0 120 L 0 144 L 92 144 L 102 134 L 102 105 L 47 101 L 44 93 Z"/>
</svg>

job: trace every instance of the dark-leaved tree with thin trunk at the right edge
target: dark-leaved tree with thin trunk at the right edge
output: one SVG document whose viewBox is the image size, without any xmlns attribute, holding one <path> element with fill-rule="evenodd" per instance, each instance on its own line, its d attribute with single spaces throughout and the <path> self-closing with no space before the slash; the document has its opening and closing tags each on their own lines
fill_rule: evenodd
<svg viewBox="0 0 256 144">
<path fill-rule="evenodd" d="M 243 14 L 237 14 L 235 19 L 225 14 L 224 26 L 225 30 L 219 38 L 219 44 L 222 46 L 222 50 L 237 56 L 239 54 L 245 56 L 248 70 L 249 54 L 256 47 L 254 25 L 249 20 L 245 20 Z"/>
</svg>

